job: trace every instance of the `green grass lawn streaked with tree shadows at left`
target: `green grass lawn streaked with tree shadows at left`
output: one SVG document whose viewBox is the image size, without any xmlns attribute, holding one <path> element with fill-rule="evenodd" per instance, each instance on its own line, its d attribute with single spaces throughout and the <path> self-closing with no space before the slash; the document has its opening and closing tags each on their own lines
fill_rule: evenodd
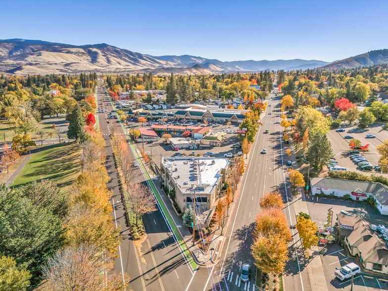
<svg viewBox="0 0 388 291">
<path fill-rule="evenodd" d="M 61 188 L 68 187 L 80 173 L 80 153 L 81 149 L 75 142 L 48 146 L 32 154 L 31 159 L 14 179 L 12 187 L 42 179 L 49 179 Z"/>
</svg>

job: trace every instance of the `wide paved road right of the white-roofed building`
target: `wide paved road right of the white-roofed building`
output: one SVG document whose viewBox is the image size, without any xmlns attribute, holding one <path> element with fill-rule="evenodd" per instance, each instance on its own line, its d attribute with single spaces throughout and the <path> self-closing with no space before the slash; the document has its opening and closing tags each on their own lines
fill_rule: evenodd
<svg viewBox="0 0 388 291">
<path fill-rule="evenodd" d="M 241 194 L 239 201 L 235 205 L 232 214 L 230 227 L 226 233 L 226 244 L 224 245 L 221 262 L 215 267 L 214 272 L 219 276 L 219 283 L 222 290 L 254 290 L 255 267 L 253 258 L 250 254 L 250 246 L 253 242 L 252 234 L 254 232 L 254 219 L 257 213 L 261 211 L 259 206 L 259 197 L 263 193 L 277 190 L 284 200 L 291 201 L 290 185 L 286 180 L 288 167 L 286 165 L 287 155 L 284 152 L 284 142 L 282 127 L 280 123 L 280 104 L 279 100 L 274 100 L 273 94 L 270 94 L 268 112 L 263 119 L 263 126 L 260 127 L 256 141 L 249 155 L 249 166 L 246 175 L 241 184 Z M 265 134 L 268 129 L 269 133 Z M 283 145 L 281 143 L 283 142 Z M 267 154 L 261 153 L 266 148 Z M 287 191 L 286 191 L 287 190 Z M 285 214 L 292 224 L 295 223 L 295 214 L 292 209 L 286 207 Z M 290 220 L 291 219 L 291 220 Z M 293 230 L 292 230 L 293 231 Z M 297 240 L 297 235 L 294 236 Z M 300 257 L 297 258 L 293 248 L 294 241 L 290 244 L 290 257 L 285 271 L 285 290 L 303 290 L 309 289 L 307 271 L 298 267 Z M 249 263 L 252 267 L 252 276 L 248 283 L 240 282 L 241 265 Z M 220 276 L 221 275 L 221 276 Z M 210 290 L 209 286 L 207 290 Z"/>
</svg>

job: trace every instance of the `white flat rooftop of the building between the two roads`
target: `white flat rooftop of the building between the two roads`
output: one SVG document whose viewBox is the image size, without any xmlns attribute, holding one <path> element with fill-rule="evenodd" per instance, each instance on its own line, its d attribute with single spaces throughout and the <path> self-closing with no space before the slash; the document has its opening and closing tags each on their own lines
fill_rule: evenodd
<svg viewBox="0 0 388 291">
<path fill-rule="evenodd" d="M 162 163 L 182 193 L 211 194 L 221 169 L 228 167 L 226 158 L 163 157 Z"/>
</svg>

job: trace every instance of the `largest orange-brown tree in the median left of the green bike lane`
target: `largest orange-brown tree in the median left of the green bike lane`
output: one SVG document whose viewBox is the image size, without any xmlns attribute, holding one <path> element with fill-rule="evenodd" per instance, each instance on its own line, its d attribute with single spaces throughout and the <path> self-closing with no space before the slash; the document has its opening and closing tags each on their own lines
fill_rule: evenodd
<svg viewBox="0 0 388 291">
<path fill-rule="evenodd" d="M 129 197 L 129 209 L 132 210 L 136 216 L 136 225 L 138 225 L 138 219 L 145 213 L 155 211 L 156 202 L 155 199 L 147 186 L 138 183 L 130 186 L 128 191 Z"/>
</svg>

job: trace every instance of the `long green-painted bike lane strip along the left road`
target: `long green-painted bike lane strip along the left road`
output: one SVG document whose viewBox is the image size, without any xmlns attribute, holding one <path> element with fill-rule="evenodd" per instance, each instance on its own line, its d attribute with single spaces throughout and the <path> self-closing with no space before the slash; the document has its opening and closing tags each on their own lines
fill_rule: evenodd
<svg viewBox="0 0 388 291">
<path fill-rule="evenodd" d="M 112 104 L 112 106 L 116 109 L 116 107 L 113 104 Z M 164 202 L 163 202 L 162 198 L 160 197 L 159 192 L 157 191 L 155 185 L 153 184 L 152 179 L 149 177 L 147 171 L 145 170 L 145 166 L 143 165 L 143 161 L 140 158 L 138 152 L 136 151 L 135 145 L 133 145 L 131 139 L 128 138 L 128 132 L 125 129 L 122 120 L 119 120 L 119 122 L 120 122 L 120 125 L 121 125 L 124 133 L 126 133 L 126 139 L 129 142 L 129 144 L 131 145 L 132 151 L 134 152 L 135 157 L 136 157 L 140 167 L 142 168 L 142 171 L 143 171 L 143 174 L 145 175 L 147 184 L 151 188 L 151 190 L 156 198 L 156 201 L 159 205 L 161 213 L 167 222 L 167 226 L 168 226 L 168 228 L 170 228 L 171 232 L 174 234 L 174 240 L 176 239 L 178 241 L 183 253 L 186 256 L 186 259 L 187 259 L 189 265 L 192 267 L 192 269 L 194 271 L 198 267 L 198 265 L 195 263 L 191 252 L 189 251 L 185 241 L 183 240 L 183 238 L 181 236 L 181 233 L 179 232 L 178 228 L 176 227 L 175 222 L 172 219 L 170 212 L 168 211 L 168 209 L 164 205 Z"/>
</svg>

